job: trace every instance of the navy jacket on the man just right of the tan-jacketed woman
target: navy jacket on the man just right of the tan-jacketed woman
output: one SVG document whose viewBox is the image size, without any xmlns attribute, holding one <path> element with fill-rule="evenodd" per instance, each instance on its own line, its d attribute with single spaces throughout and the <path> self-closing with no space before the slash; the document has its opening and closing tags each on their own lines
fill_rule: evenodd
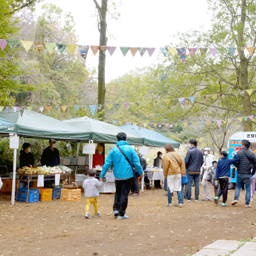
<svg viewBox="0 0 256 256">
<path fill-rule="evenodd" d="M 185 165 L 187 173 L 200 173 L 204 163 L 204 154 L 196 146 L 192 147 L 186 154 Z"/>
</svg>

